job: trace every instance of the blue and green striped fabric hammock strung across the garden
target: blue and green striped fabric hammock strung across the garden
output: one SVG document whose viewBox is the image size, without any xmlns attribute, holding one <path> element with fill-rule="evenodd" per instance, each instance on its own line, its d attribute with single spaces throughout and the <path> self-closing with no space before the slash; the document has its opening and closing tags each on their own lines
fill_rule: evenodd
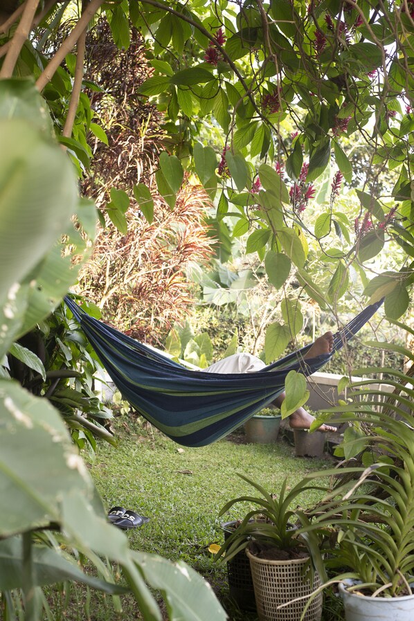
<svg viewBox="0 0 414 621">
<path fill-rule="evenodd" d="M 123 398 L 147 421 L 186 447 L 203 447 L 237 429 L 273 402 L 289 371 L 312 375 L 341 349 L 382 303 L 372 304 L 334 335 L 332 353 L 303 357 L 312 343 L 263 370 L 243 374 L 192 371 L 89 316 L 65 298 Z"/>
</svg>

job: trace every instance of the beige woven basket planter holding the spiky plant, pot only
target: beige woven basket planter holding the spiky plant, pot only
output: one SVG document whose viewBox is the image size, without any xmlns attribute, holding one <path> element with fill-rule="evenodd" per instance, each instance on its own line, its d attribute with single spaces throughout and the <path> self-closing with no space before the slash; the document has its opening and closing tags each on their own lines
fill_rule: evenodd
<svg viewBox="0 0 414 621">
<path fill-rule="evenodd" d="M 278 609 L 280 604 L 291 602 L 297 597 L 311 595 L 321 580 L 314 574 L 314 584 L 304 578 L 304 569 L 309 558 L 289 561 L 268 561 L 259 559 L 246 550 L 249 557 L 256 606 L 260 621 L 300 621 L 307 597 Z M 322 593 L 318 593 L 309 605 L 304 621 L 320 621 L 322 615 Z"/>
</svg>

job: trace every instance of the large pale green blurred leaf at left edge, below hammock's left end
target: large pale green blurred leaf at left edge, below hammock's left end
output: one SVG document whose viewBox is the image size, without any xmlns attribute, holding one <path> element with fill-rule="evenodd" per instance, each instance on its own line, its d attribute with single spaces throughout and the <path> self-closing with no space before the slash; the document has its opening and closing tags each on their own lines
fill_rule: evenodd
<svg viewBox="0 0 414 621">
<path fill-rule="evenodd" d="M 92 480 L 66 426 L 46 399 L 0 379 L 0 536 L 61 521 L 62 496 Z"/>
</svg>

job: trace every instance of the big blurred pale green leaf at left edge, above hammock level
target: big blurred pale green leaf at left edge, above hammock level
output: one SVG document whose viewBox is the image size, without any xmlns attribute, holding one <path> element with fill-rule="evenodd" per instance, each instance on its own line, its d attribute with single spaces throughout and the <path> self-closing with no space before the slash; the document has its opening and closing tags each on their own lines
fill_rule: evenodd
<svg viewBox="0 0 414 621">
<path fill-rule="evenodd" d="M 0 305 L 64 231 L 75 210 L 67 156 L 25 120 L 0 120 Z"/>
</svg>

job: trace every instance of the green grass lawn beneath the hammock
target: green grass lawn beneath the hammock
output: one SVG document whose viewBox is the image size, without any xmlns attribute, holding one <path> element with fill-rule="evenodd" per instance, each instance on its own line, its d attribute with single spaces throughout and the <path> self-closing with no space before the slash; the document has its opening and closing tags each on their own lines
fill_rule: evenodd
<svg viewBox="0 0 414 621">
<path fill-rule="evenodd" d="M 242 432 L 208 447 L 180 447 L 152 429 L 141 418 L 123 416 L 116 420 L 118 448 L 99 442 L 90 470 L 107 510 L 121 505 L 150 517 L 141 528 L 127 532 L 132 548 L 162 555 L 172 561 L 181 559 L 210 582 L 231 621 L 254 621 L 228 598 L 226 565 L 214 561 L 210 543 L 223 539 L 218 519 L 220 508 L 231 498 L 251 494 L 253 489 L 237 476 L 243 473 L 274 494 L 287 477 L 293 486 L 307 472 L 332 466 L 329 460 L 296 458 L 286 442 L 245 444 Z M 301 498 L 312 505 L 317 492 Z M 243 516 L 246 506 L 233 509 L 227 520 Z M 115 528 L 115 527 L 114 527 Z M 111 602 L 93 594 L 97 601 L 89 606 L 92 621 L 116 618 Z M 82 607 L 82 606 L 81 606 Z M 73 611 L 73 606 L 69 606 Z M 70 620 L 84 619 L 71 615 Z M 123 597 L 122 618 L 140 618 L 131 597 Z M 325 621 L 336 617 L 327 615 Z M 214 620 L 212 620 L 214 621 Z"/>
</svg>

